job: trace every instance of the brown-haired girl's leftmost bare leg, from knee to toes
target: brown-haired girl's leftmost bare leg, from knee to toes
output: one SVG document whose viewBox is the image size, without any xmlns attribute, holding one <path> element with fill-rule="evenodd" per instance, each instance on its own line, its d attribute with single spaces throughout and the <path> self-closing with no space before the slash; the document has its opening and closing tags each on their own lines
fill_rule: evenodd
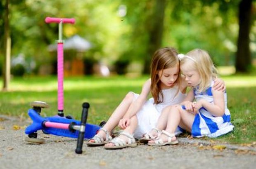
<svg viewBox="0 0 256 169">
<path fill-rule="evenodd" d="M 132 92 L 129 92 L 126 94 L 123 101 L 119 104 L 119 106 L 114 110 L 112 115 L 109 117 L 109 120 L 104 125 L 104 129 L 107 131 L 112 131 L 119 123 L 119 120 L 123 118 L 123 116 L 126 114 L 128 108 L 130 107 L 131 103 L 133 102 L 134 94 Z M 106 138 L 106 134 L 104 131 L 99 131 L 97 133 L 98 136 L 102 136 L 104 139 Z M 95 140 L 90 140 L 90 142 L 95 142 Z"/>
</svg>

